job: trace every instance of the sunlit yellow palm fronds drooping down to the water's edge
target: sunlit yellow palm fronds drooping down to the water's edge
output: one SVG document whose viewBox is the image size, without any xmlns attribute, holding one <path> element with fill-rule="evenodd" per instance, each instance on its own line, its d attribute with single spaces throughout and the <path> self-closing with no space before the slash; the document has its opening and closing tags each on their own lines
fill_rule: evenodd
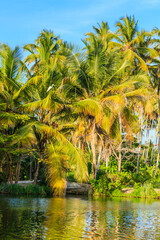
<svg viewBox="0 0 160 240">
<path fill-rule="evenodd" d="M 65 143 L 65 142 L 64 142 Z M 71 144 L 60 142 L 47 145 L 46 164 L 48 165 L 48 178 L 55 195 L 63 195 L 66 187 L 66 172 L 72 170 L 77 181 L 88 179 L 87 166 L 82 155 Z"/>
</svg>

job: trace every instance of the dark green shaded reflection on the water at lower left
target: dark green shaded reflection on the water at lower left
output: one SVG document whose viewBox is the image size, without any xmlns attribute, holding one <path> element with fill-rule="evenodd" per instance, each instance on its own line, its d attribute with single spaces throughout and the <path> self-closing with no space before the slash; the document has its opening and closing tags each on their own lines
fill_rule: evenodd
<svg viewBox="0 0 160 240">
<path fill-rule="evenodd" d="M 42 239 L 44 210 L 40 205 L 32 199 L 0 198 L 0 239 Z"/>
</svg>

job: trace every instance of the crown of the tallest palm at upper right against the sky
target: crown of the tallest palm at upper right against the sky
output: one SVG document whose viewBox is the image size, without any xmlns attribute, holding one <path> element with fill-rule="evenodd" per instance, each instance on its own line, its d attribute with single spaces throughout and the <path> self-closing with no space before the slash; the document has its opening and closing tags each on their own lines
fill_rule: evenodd
<svg viewBox="0 0 160 240">
<path fill-rule="evenodd" d="M 138 66 L 147 72 L 148 67 L 145 62 L 147 54 L 156 55 L 154 49 L 151 48 L 153 34 L 144 30 L 139 32 L 137 24 L 138 21 L 135 21 L 134 16 L 121 18 L 116 24 L 116 34 L 112 33 L 116 42 L 111 41 L 109 45 L 111 48 L 121 49 L 125 58 L 131 60 L 134 69 L 137 70 Z"/>
</svg>

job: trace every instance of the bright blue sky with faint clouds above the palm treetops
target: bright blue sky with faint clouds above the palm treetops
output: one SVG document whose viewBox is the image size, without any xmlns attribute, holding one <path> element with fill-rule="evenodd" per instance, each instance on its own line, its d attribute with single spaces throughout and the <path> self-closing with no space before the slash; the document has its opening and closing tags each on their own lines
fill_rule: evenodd
<svg viewBox="0 0 160 240">
<path fill-rule="evenodd" d="M 160 0 L 1 0 L 0 42 L 22 47 L 48 29 L 81 47 L 97 22 L 107 21 L 114 31 L 126 14 L 139 20 L 139 30 L 160 28 Z"/>
</svg>

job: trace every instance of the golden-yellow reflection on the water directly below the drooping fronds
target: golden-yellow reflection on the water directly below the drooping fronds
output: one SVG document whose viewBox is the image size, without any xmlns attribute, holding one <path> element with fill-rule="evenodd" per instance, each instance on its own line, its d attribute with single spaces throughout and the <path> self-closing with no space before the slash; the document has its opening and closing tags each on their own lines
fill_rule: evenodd
<svg viewBox="0 0 160 240">
<path fill-rule="evenodd" d="M 46 239 L 82 238 L 87 205 L 80 199 L 51 199 L 46 214 Z"/>
</svg>

